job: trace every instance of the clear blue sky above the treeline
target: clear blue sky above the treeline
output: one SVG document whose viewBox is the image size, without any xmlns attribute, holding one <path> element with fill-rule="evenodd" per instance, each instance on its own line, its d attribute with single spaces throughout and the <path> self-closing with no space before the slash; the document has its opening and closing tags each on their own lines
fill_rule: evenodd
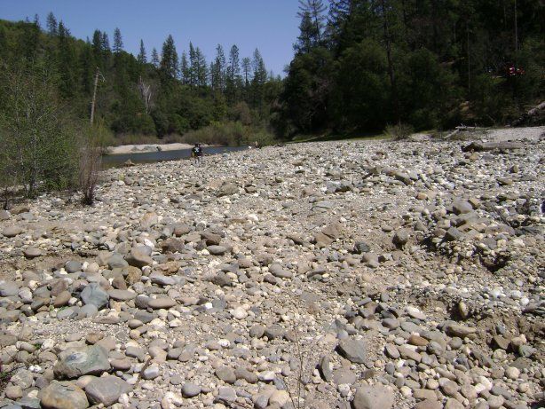
<svg viewBox="0 0 545 409">
<path fill-rule="evenodd" d="M 227 59 L 233 44 L 241 59 L 257 48 L 267 69 L 283 76 L 298 35 L 297 8 L 297 0 L 0 0 L 0 19 L 34 20 L 37 14 L 44 28 L 53 12 L 76 38 L 92 38 L 98 28 L 110 44 L 119 28 L 124 49 L 137 55 L 142 39 L 148 59 L 154 47 L 161 52 L 169 34 L 180 56 L 191 41 L 208 61 L 217 43 Z"/>
</svg>

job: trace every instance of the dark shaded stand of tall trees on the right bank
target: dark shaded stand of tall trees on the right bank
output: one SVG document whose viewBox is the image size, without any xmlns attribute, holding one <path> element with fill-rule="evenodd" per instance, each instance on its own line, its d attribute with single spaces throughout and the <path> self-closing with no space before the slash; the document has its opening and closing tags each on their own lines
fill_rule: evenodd
<svg viewBox="0 0 545 409">
<path fill-rule="evenodd" d="M 544 95 L 535 0 L 305 0 L 277 123 L 319 130 L 505 124 Z"/>
</svg>

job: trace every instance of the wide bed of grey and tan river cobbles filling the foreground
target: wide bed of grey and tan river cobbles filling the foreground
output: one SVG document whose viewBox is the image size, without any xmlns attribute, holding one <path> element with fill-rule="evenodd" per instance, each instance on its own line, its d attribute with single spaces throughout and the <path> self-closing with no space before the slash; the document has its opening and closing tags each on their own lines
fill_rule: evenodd
<svg viewBox="0 0 545 409">
<path fill-rule="evenodd" d="M 3 211 L 0 407 L 542 407 L 544 153 L 267 147 Z"/>
</svg>

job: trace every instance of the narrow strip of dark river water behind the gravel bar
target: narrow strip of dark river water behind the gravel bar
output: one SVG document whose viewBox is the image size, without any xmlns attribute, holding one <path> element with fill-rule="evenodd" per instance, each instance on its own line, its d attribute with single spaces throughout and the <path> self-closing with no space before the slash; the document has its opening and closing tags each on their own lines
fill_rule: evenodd
<svg viewBox="0 0 545 409">
<path fill-rule="evenodd" d="M 207 146 L 203 148 L 206 161 L 206 156 L 217 153 L 228 153 L 245 151 L 248 146 Z M 123 165 L 126 161 L 133 163 L 153 163 L 156 161 L 177 161 L 179 159 L 189 159 L 191 157 L 191 149 L 178 149 L 176 151 L 154 151 L 142 153 L 122 153 L 102 156 L 102 165 L 104 168 L 117 168 Z"/>
</svg>

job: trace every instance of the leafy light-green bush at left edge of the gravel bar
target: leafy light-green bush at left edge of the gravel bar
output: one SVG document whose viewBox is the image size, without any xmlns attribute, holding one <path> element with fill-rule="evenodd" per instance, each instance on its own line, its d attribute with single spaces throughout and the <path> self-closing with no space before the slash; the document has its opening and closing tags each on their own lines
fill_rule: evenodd
<svg viewBox="0 0 545 409">
<path fill-rule="evenodd" d="M 43 62 L 4 67 L 0 111 L 0 179 L 22 185 L 27 196 L 38 190 L 65 189 L 75 183 L 75 128 L 53 91 Z"/>
</svg>

